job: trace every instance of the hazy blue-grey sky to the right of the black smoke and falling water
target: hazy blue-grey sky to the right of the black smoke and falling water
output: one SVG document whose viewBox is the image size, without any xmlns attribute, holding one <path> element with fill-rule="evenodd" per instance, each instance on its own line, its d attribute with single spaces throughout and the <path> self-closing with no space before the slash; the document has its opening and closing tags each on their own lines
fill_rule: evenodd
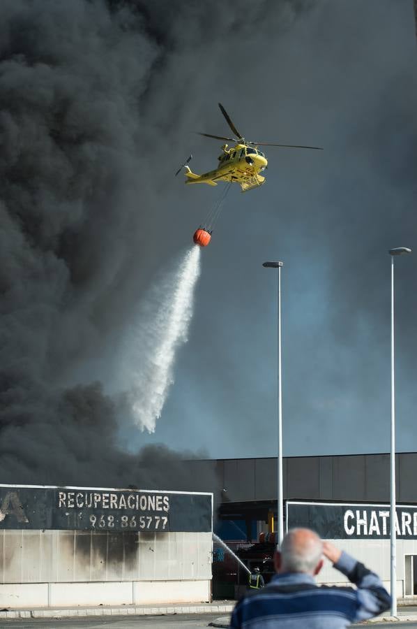
<svg viewBox="0 0 417 629">
<path fill-rule="evenodd" d="M 280 259 L 284 454 L 388 451 L 388 249 L 416 246 L 412 3 L 314 2 L 255 54 L 253 74 L 241 78 L 231 52 L 230 82 L 208 95 L 212 111 L 197 128 L 227 132 L 220 100 L 248 138 L 324 152 L 271 147 L 266 185 L 229 194 L 203 252 L 174 386 L 145 439 L 181 447 L 185 435 L 214 458 L 276 454 L 277 280 L 261 263 Z M 214 140 L 184 145 L 195 171 L 211 167 Z M 215 195 L 196 188 L 174 193 L 186 204 L 185 231 L 188 207 Z M 395 263 L 397 449 L 415 451 L 417 260 Z"/>
</svg>

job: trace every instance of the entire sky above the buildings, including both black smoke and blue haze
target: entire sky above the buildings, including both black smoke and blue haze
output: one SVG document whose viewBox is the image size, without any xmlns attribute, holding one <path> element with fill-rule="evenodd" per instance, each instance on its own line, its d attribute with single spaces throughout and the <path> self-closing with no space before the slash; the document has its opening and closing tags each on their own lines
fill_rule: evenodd
<svg viewBox="0 0 417 629">
<path fill-rule="evenodd" d="M 3 13 L 5 481 L 151 487 L 162 468 L 181 477 L 183 456 L 274 456 L 266 259 L 284 261 L 284 454 L 388 451 L 388 249 L 416 248 L 412 0 L 5 0 Z M 229 135 L 219 101 L 248 138 L 324 151 L 271 147 L 266 184 L 229 193 L 149 434 L 123 398 L 123 347 L 221 193 L 174 178 L 190 152 L 195 172 L 215 165 L 220 143 L 195 131 Z M 417 259 L 395 264 L 397 449 L 414 451 Z"/>
</svg>

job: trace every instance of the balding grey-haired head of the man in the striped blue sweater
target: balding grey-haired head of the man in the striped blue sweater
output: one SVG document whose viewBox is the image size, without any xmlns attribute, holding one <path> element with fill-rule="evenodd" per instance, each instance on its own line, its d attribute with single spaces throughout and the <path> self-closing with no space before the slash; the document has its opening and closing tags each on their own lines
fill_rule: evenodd
<svg viewBox="0 0 417 629">
<path fill-rule="evenodd" d="M 322 565 L 323 543 L 309 528 L 293 528 L 282 540 L 277 554 L 278 572 L 317 574 Z"/>
</svg>

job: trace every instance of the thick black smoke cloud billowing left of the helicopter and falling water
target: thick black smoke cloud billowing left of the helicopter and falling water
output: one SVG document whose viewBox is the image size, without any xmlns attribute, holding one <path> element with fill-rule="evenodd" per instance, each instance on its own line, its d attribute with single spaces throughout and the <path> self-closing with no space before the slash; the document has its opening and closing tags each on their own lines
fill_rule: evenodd
<svg viewBox="0 0 417 629">
<path fill-rule="evenodd" d="M 103 382 L 153 270 L 181 241 L 181 217 L 161 233 L 166 178 L 183 134 L 213 110 L 214 68 L 239 47 L 235 79 L 255 71 L 259 37 L 310 6 L 1 3 L 2 482 L 208 489 L 167 447 L 118 446 L 128 410 Z"/>
</svg>

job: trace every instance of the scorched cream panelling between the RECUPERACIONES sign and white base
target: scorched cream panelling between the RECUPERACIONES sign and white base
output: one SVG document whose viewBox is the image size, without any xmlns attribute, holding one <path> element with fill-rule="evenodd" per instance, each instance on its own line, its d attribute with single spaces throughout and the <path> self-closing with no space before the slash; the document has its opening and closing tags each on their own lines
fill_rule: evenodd
<svg viewBox="0 0 417 629">
<path fill-rule="evenodd" d="M 211 533 L 0 530 L 0 582 L 211 579 Z"/>
</svg>

